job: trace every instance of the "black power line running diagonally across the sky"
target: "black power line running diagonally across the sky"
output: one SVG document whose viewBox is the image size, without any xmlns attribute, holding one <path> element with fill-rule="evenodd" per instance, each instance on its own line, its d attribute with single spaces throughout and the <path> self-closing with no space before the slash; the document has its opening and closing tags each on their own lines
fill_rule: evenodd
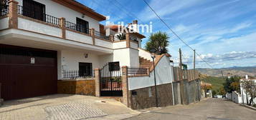
<svg viewBox="0 0 256 120">
<path fill-rule="evenodd" d="M 156 16 L 158 17 L 158 19 L 160 19 L 160 20 L 163 22 L 163 24 L 165 24 L 165 25 L 169 28 L 169 30 L 170 30 L 180 41 L 182 41 L 186 46 L 188 46 L 192 51 L 194 51 L 194 49 L 193 49 L 191 46 L 189 46 L 189 44 L 186 44 L 186 42 L 185 42 L 183 39 L 181 39 L 181 37 L 180 37 L 178 34 L 176 34 L 175 31 L 173 31 L 173 30 L 171 29 L 171 27 L 170 27 L 168 24 L 166 24 L 165 21 L 163 21 L 163 19 L 161 19 L 161 17 L 156 13 L 155 10 L 153 10 L 153 8 L 148 4 L 148 2 L 147 2 L 146 0 L 143 0 L 143 1 L 144 1 L 144 2 L 147 4 L 147 6 L 153 11 L 153 13 L 156 14 Z M 202 59 L 201 55 L 199 55 L 198 53 L 196 53 L 196 55 L 198 55 L 199 58 Z M 212 69 L 214 69 L 214 68 L 212 67 L 212 65 L 210 65 L 207 61 L 205 61 L 204 59 L 202 59 L 202 61 L 204 61 L 207 65 L 209 65 Z"/>
</svg>

